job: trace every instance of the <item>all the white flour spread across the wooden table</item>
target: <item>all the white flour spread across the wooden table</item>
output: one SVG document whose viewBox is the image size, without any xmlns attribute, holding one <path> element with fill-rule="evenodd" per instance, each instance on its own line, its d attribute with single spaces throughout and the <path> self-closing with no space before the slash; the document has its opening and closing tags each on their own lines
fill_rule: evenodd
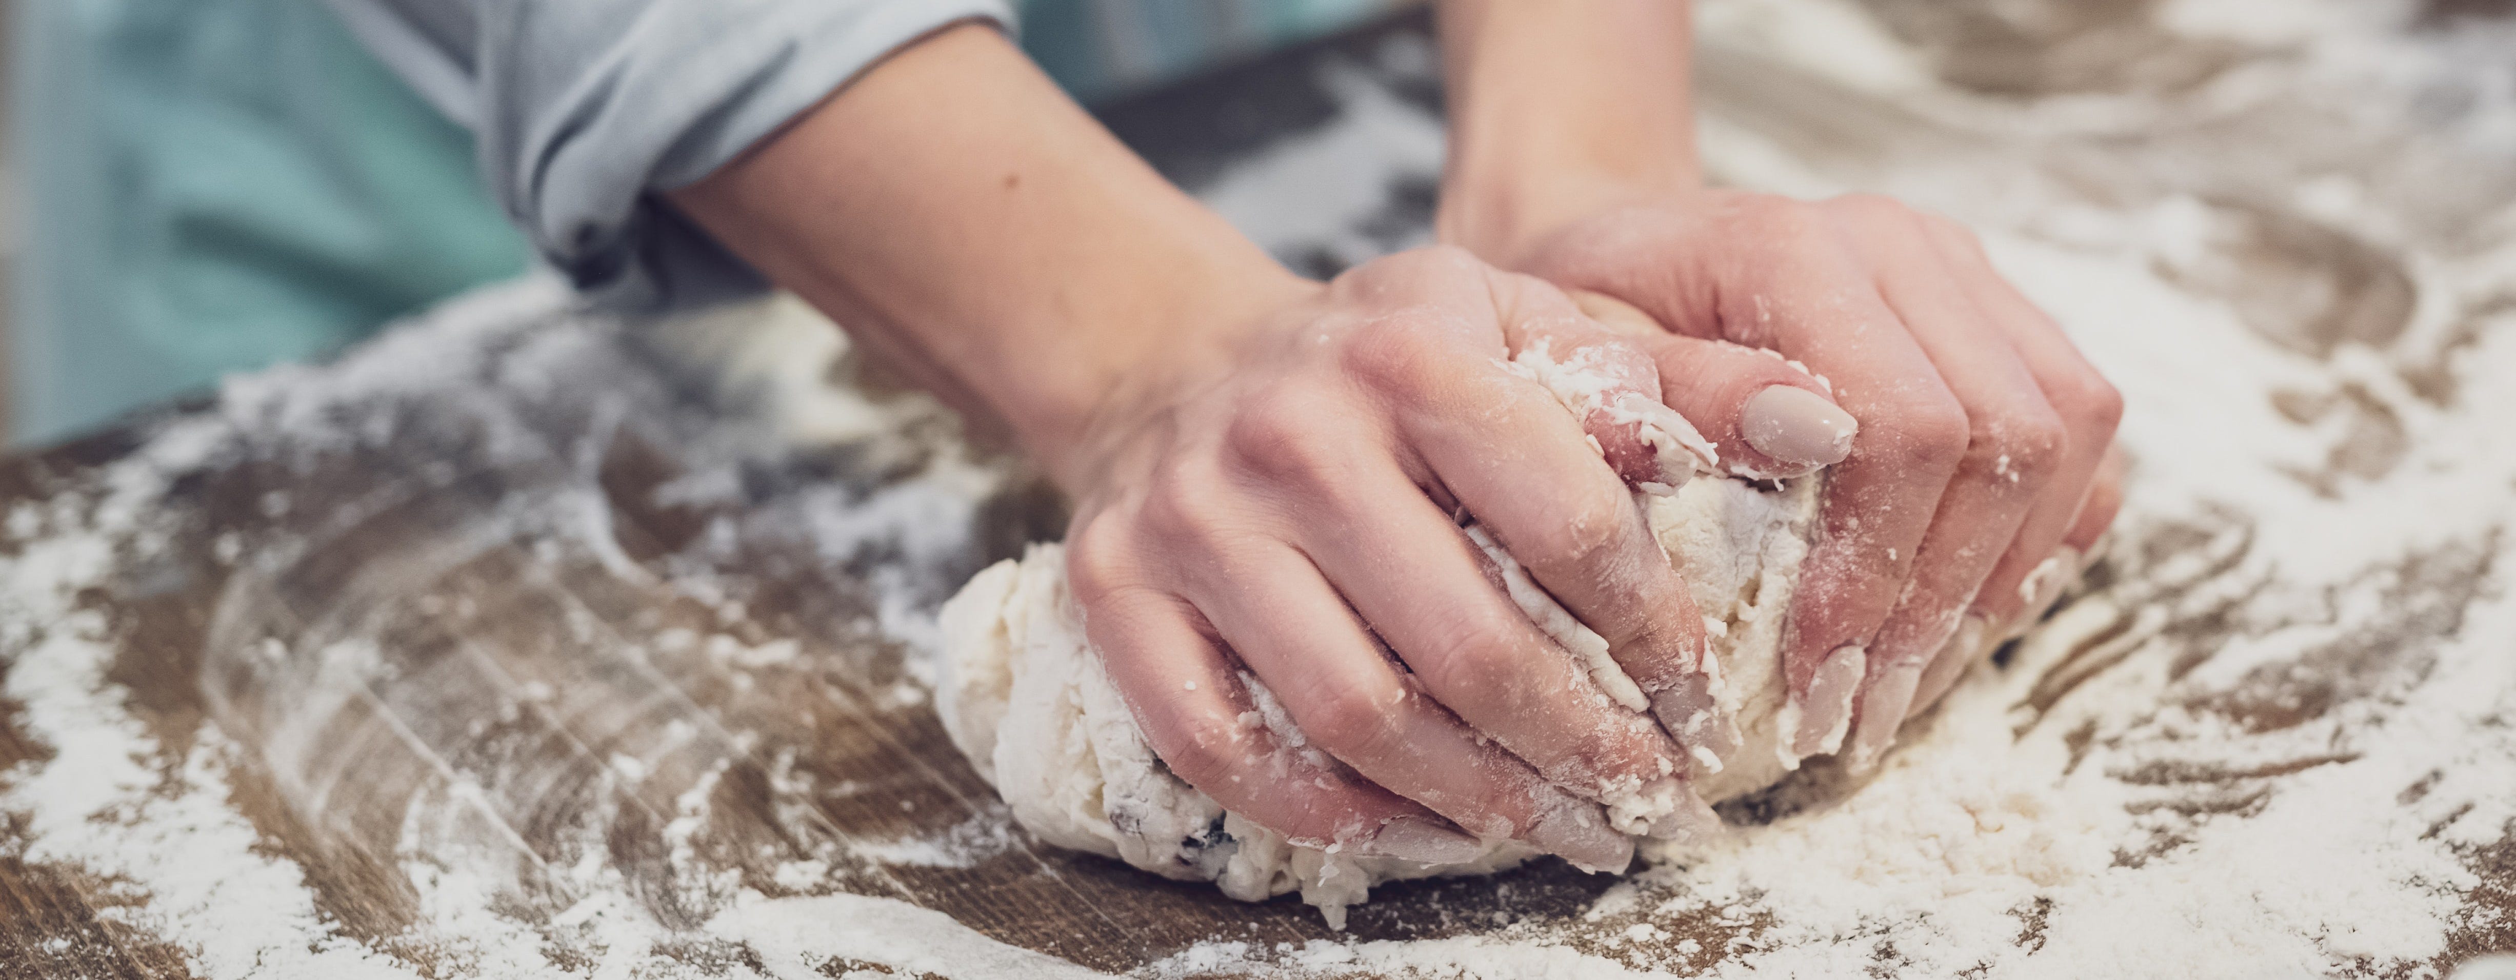
<svg viewBox="0 0 2516 980">
<path fill-rule="evenodd" d="M 2098 33 L 2129 38 L 2136 58 L 2033 48 L 2088 35 L 2051 20 L 2098 8 L 2129 10 Z M 1927 20 L 1945 10 L 1995 20 Z M 2516 289 L 2506 23 L 2415 28 L 2410 5 L 2395 3 L 2171 3 L 2166 28 L 2141 5 L 1983 10 L 1706 3 L 1706 166 L 1754 188 L 1882 188 L 1985 231 L 1993 261 L 2126 392 L 2126 515 L 2093 583 L 2005 666 L 1975 671 L 1907 726 L 1867 784 L 1817 764 L 1739 797 L 1723 804 L 1734 842 L 1648 849 L 1643 869 L 1572 912 L 1497 902 L 1510 912 L 1484 917 L 1457 902 L 1459 915 L 1442 905 L 1429 917 L 1432 932 L 1366 935 L 1371 920 L 1359 915 L 1351 937 L 1281 945 L 1220 930 L 1137 950 L 1137 975 L 2420 977 L 2506 940 L 2506 922 L 2473 912 L 2476 895 L 2508 885 L 2486 854 L 2506 847 L 2516 819 L 2516 658 L 2506 656 L 2516 603 L 2503 588 L 2516 548 L 2503 530 L 2516 523 L 2506 425 L 2516 387 L 2501 382 L 2516 374 L 2516 314 L 2496 299 Z M 1995 58 L 1955 48 L 1983 38 L 2025 48 Z M 2076 63 L 2093 78 L 2015 78 L 1985 93 L 1940 80 L 1942 58 Z M 2214 58 L 2227 68 L 2204 70 Z M 1424 186 L 1439 168 L 1437 121 L 1369 70 L 1341 73 L 1333 93 L 1346 116 L 1223 173 L 1208 193 L 1278 254 L 1321 246 L 1359 261 L 1419 241 L 1422 224 L 1389 221 L 1381 193 L 1321 188 Z M 808 643 L 785 663 L 775 646 L 785 636 L 745 613 L 750 580 L 684 558 L 782 535 L 810 560 L 881 570 L 855 623 L 860 646 L 908 646 L 913 678 L 941 648 L 933 606 L 976 570 L 956 543 L 966 545 L 1001 470 L 903 435 L 933 425 L 923 410 L 757 395 L 805 374 L 793 364 L 843 359 L 810 332 L 785 334 L 810 357 L 740 359 L 755 372 L 722 384 L 702 372 L 697 387 L 803 405 L 823 422 L 677 430 L 682 447 L 725 447 L 667 480 L 674 490 L 662 498 L 699 515 L 689 553 L 624 558 L 717 616 L 684 623 L 689 651 L 737 628 L 730 661 L 767 651 L 735 663 L 765 686 L 838 653 Z M 513 412 L 616 397 L 619 432 L 654 422 L 672 400 L 644 389 L 647 374 L 624 369 L 609 337 L 551 281 L 491 289 L 340 364 L 239 377 L 211 415 L 164 425 L 123 462 L 13 508 L 0 520 L 5 719 L 50 754 L 0 774 L 10 814 L 0 847 L 35 869 L 108 879 L 131 900 L 108 910 L 118 930 L 211 980 L 1057 975 L 1054 962 L 906 902 L 818 895 L 898 895 L 886 892 L 886 862 L 903 874 L 926 859 L 986 867 L 996 829 L 1006 854 L 1034 847 L 1029 834 L 981 822 L 964 839 L 956 819 L 727 879 L 725 854 L 710 849 L 710 829 L 727 819 L 712 802 L 722 781 L 672 781 L 662 734 L 619 749 L 632 766 L 604 766 L 624 787 L 637 769 L 637 787 L 664 794 L 659 822 L 637 824 L 662 827 L 649 829 L 664 844 L 657 867 L 611 864 L 601 834 L 632 824 L 601 814 L 571 827 L 548 867 L 518 862 L 503 824 L 483 817 L 498 797 L 481 776 L 498 776 L 498 761 L 453 759 L 448 771 L 463 779 L 385 827 L 403 844 L 382 872 L 408 882 L 413 917 L 352 935 L 327 912 L 317 864 L 269 847 L 274 837 L 234 809 L 242 787 L 289 756 L 257 741 L 244 714 L 169 719 L 108 676 L 123 638 L 81 596 L 161 553 L 169 515 L 186 505 L 169 493 L 176 480 L 259 452 L 274 472 L 320 467 L 398 435 L 448 435 L 445 417 L 463 417 L 476 422 L 463 445 L 546 465 L 554 485 L 591 493 L 594 475 L 576 470 L 589 452 L 538 445 L 538 427 Z M 589 387 L 589 372 L 606 384 Z M 435 415 L 345 412 L 387 397 Z M 478 412 L 448 407 L 465 400 Z M 863 442 L 855 460 L 898 480 L 785 477 L 770 445 L 808 432 Z M 790 485 L 762 495 L 762 480 Z M 312 505 L 287 490 L 259 487 L 239 508 Z M 579 510 L 533 498 L 463 530 L 554 540 L 574 555 L 596 530 L 581 510 L 591 498 L 571 500 Z M 244 570 L 299 545 L 204 543 L 221 568 Z M 1759 611 L 1723 623 L 1771 621 Z M 279 661 L 332 651 L 342 668 L 392 653 L 254 651 Z M 1744 668 L 1728 666 L 1728 691 L 1759 686 Z M 913 704 L 883 694 L 898 683 L 883 673 L 871 691 Z M 566 683 L 541 681 L 526 701 L 566 696 Z M 1746 729 L 1754 709 L 1741 701 Z M 727 756 L 765 739 L 674 731 L 672 744 L 722 744 Z M 1741 759 L 1759 754 L 1739 751 L 1711 779 L 1776 779 L 1734 776 Z M 845 789 L 785 771 L 767 807 L 808 812 L 798 794 Z M 556 895 L 551 907 L 518 902 L 528 895 L 518 874 L 543 874 L 531 895 Z M 1505 877 L 1479 895 L 1532 882 Z M 780 887 L 790 895 L 770 895 Z M 1449 900 L 1384 892 L 1374 910 L 1399 902 Z M 657 907 L 697 917 L 664 920 Z"/>
</svg>

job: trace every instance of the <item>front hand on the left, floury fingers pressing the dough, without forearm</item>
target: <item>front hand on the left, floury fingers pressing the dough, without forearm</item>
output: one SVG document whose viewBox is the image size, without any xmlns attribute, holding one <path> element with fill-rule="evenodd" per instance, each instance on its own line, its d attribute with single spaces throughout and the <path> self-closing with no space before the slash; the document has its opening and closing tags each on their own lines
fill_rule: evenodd
<svg viewBox="0 0 2516 980">
<path fill-rule="evenodd" d="M 1678 410 L 1726 455 L 1744 402 L 1819 387 L 1746 349 L 1653 344 L 1459 249 L 1165 339 L 1092 415 L 1087 465 L 1062 467 L 1084 631 L 1162 761 L 1296 842 L 1419 862 L 1522 839 L 1620 869 L 1633 847 L 1600 809 L 1618 799 L 1676 804 L 1625 829 L 1716 822 L 1668 736 L 1706 721 L 1703 621 L 1628 487 L 1693 460 L 1635 420 L 1668 412 L 1661 367 L 1698 372 L 1668 389 L 1701 392 Z M 1537 357 L 1605 382 L 1585 415 L 1532 379 Z M 1459 515 L 1608 641 L 1666 731 L 1540 633 Z"/>
</svg>

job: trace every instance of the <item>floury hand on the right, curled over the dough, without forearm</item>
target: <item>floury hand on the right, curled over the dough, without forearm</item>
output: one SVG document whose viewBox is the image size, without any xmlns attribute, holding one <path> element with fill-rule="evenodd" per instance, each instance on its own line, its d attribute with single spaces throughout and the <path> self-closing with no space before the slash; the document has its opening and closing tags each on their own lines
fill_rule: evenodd
<svg viewBox="0 0 2516 980">
<path fill-rule="evenodd" d="M 1859 420 L 1784 651 L 1796 754 L 1849 731 L 1872 764 L 2023 616 L 2030 573 L 2076 573 L 2111 520 L 2098 462 L 2121 397 L 1955 221 L 1879 196 L 1696 191 L 1570 221 L 1520 266 L 1804 362 Z"/>
</svg>

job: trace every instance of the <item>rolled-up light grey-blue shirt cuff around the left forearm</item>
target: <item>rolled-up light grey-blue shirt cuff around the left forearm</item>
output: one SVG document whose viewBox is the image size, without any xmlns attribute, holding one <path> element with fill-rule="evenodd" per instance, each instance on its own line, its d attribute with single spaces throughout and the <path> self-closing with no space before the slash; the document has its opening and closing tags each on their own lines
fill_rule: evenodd
<svg viewBox="0 0 2516 980">
<path fill-rule="evenodd" d="M 654 191 L 715 173 L 901 45 L 966 20 L 1011 30 L 1014 13 L 1004 0 L 657 0 L 586 68 L 543 78 L 564 85 L 541 113 L 506 131 L 488 121 L 483 163 L 543 259 L 596 307 L 747 297 L 765 279 Z"/>
</svg>

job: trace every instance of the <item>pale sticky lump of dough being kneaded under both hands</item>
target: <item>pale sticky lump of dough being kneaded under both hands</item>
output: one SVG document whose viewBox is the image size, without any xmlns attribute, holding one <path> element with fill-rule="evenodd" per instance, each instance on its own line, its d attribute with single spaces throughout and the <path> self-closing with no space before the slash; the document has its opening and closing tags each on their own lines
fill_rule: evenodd
<svg viewBox="0 0 2516 980">
<path fill-rule="evenodd" d="M 1693 588 L 1723 678 L 1721 701 L 1741 731 L 1741 746 L 1721 771 L 1696 761 L 1693 787 L 1706 802 L 1764 789 L 1796 766 L 1781 731 L 1779 651 L 1784 611 L 1809 550 L 1817 477 L 1779 487 L 1698 477 L 1671 495 L 1635 500 L 1648 508 L 1661 548 Z M 1507 580 L 1520 578 L 1507 555 L 1489 553 Z M 1545 591 L 1512 588 L 1512 598 L 1565 646 L 1565 656 L 1583 658 L 1603 696 L 1640 701 L 1638 691 L 1625 691 L 1633 681 L 1605 658 L 1605 643 L 1590 656 L 1580 641 L 1588 628 Z M 1495 842 L 1462 864 L 1356 857 L 1339 847 L 1291 844 L 1225 812 L 1172 776 L 1137 731 L 1084 643 L 1059 545 L 1032 545 L 1021 560 L 996 563 L 944 603 L 944 661 L 936 706 L 954 744 L 1004 794 L 1014 819 L 1057 847 L 1117 857 L 1172 879 L 1215 882 L 1245 902 L 1301 890 L 1339 927 L 1344 907 L 1369 897 L 1371 885 L 1482 874 L 1535 854 L 1517 842 Z M 1281 709 L 1268 711 L 1273 696 L 1255 678 L 1243 678 L 1261 714 L 1278 716 Z M 1281 719 L 1271 721 L 1298 749 L 1298 736 L 1283 731 Z"/>
</svg>

